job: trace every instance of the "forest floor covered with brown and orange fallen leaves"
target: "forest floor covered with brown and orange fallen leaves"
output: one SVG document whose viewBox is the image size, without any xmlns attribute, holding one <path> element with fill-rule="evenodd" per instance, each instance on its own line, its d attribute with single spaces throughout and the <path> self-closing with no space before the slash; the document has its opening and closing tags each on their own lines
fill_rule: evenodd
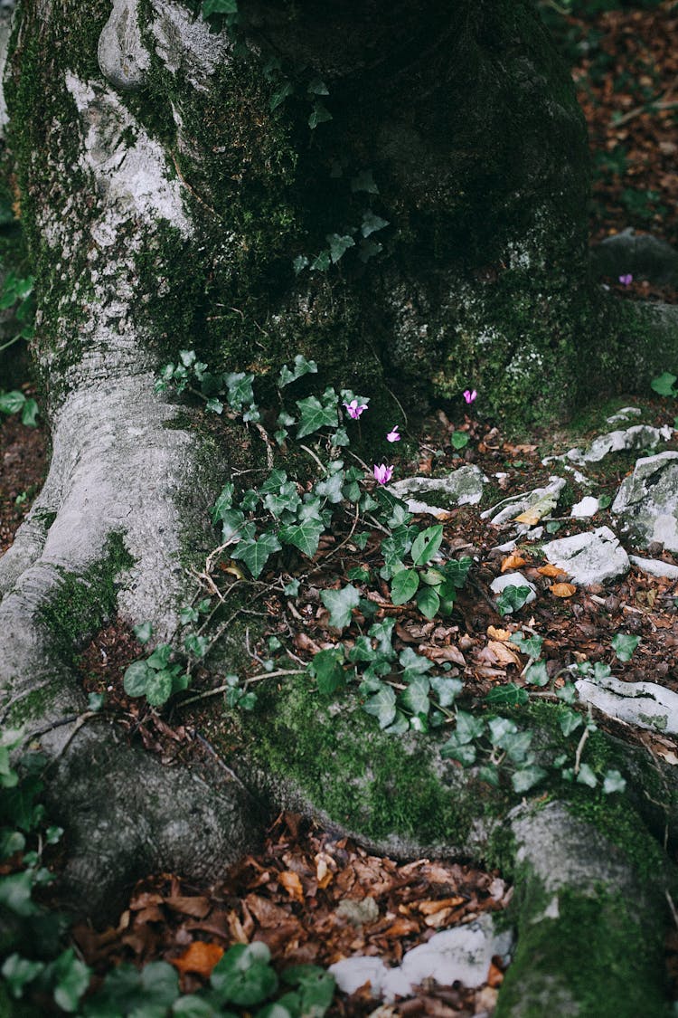
<svg viewBox="0 0 678 1018">
<path fill-rule="evenodd" d="M 663 3 L 653 11 L 625 8 L 585 19 L 560 18 L 559 36 L 573 67 L 594 150 L 594 239 L 633 226 L 678 246 L 678 7 Z M 608 284 L 629 299 L 677 299 L 674 292 L 642 280 L 628 286 L 616 280 Z M 675 371 L 675 365 L 666 366 Z M 641 401 L 615 400 L 601 408 L 595 419 L 576 422 L 567 436 L 538 434 L 529 444 L 512 444 L 491 422 L 471 412 L 477 407 L 482 418 L 481 394 L 477 404 L 466 415 L 459 411 L 455 421 L 441 412 L 433 415 L 421 434 L 417 454 L 400 462 L 396 458 L 398 474 L 437 475 L 476 463 L 492 478 L 481 506 L 484 509 L 508 495 L 543 485 L 557 472 L 556 464 L 542 464 L 543 457 L 565 451 L 573 444 L 573 435 L 576 444 L 583 445 L 612 430 L 605 416 L 624 402 L 641 408 L 642 422 L 674 426 L 676 401 L 649 393 Z M 453 434 L 468 437 L 459 450 L 452 447 Z M 678 443 L 662 448 L 676 449 Z M 613 454 L 597 465 L 598 472 L 590 471 L 596 494 L 612 499 L 635 458 Z M 11 544 L 40 490 L 47 459 L 48 443 L 40 427 L 26 428 L 14 417 L 0 422 L 0 554 Z M 584 494 L 570 482 L 552 521 L 558 538 L 611 522 L 607 508 L 593 520 L 569 515 L 571 505 Z M 507 565 L 508 556 L 497 551 L 505 540 L 501 529 L 481 520 L 478 508 L 450 511 L 444 525 L 445 548 L 475 558 L 473 580 L 444 623 L 423 619 L 412 606 L 393 608 L 387 589 L 381 601 L 377 593 L 381 616 L 396 617 L 400 647 L 411 645 L 434 661 L 450 663 L 448 674 L 458 675 L 478 698 L 498 684 L 519 684 L 525 661 L 507 642 L 517 626 L 497 614 L 489 589 L 504 569 L 517 567 L 538 588 L 527 624 L 545 637 L 549 674 L 583 658 L 610 661 L 612 638 L 623 630 L 639 636 L 640 643 L 629 664 L 613 664 L 614 674 L 625 680 L 659 681 L 678 691 L 675 582 L 631 568 L 624 577 L 605 584 L 556 590 L 554 577 L 539 571 L 542 563 L 529 548 L 518 546 L 515 554 L 522 562 L 518 565 L 511 560 Z M 347 549 L 344 557 L 334 556 L 323 568 L 322 558 L 330 551 L 331 545 L 320 548 L 314 561 L 319 566 L 314 584 L 302 591 L 294 619 L 284 600 L 272 596 L 266 603 L 269 635 L 288 640 L 297 660 L 309 660 L 315 649 L 332 640 L 319 589 L 346 582 L 352 568 L 370 568 L 370 542 L 363 551 Z M 639 551 L 661 555 L 653 549 Z M 669 555 L 663 557 L 671 561 Z M 258 649 L 252 648 L 253 656 Z M 140 735 L 149 749 L 170 762 L 195 736 L 180 723 L 162 721 L 139 700 L 125 696 L 124 670 L 141 654 L 134 636 L 112 619 L 82 648 L 83 682 L 89 691 L 105 692 L 107 700 L 126 716 L 130 732 Z M 618 734 L 614 723 L 609 725 Z M 626 737 L 678 766 L 675 740 L 648 732 L 626 733 Z M 227 880 L 195 887 L 176 874 L 150 874 L 130 889 L 129 903 L 116 924 L 104 930 L 81 924 L 73 937 L 81 956 L 100 976 L 121 960 L 145 963 L 162 958 L 175 965 L 182 988 L 191 992 L 204 984 L 233 943 L 263 940 L 279 966 L 293 961 L 326 965 L 356 953 L 397 963 L 406 950 L 436 931 L 504 907 L 510 895 L 511 889 L 497 872 L 440 860 L 396 863 L 377 858 L 346 839 L 336 840 L 294 815 L 282 814 L 268 832 L 262 852 L 242 860 Z M 355 923 L 342 914 L 343 901 L 368 897 L 377 906 L 369 919 Z M 670 934 L 667 950 L 675 978 L 678 931 Z M 350 998 L 337 994 L 330 1014 L 349 1018 L 377 1013 L 380 1018 L 491 1015 L 502 977 L 499 959 L 495 959 L 487 981 L 478 987 L 427 984 L 410 999 L 378 1012 L 366 989 Z"/>
</svg>

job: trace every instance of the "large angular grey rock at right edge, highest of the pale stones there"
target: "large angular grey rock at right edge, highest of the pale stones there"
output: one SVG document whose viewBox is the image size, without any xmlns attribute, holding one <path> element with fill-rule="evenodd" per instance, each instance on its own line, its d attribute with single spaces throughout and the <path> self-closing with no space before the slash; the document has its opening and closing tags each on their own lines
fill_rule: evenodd
<svg viewBox="0 0 678 1018">
<path fill-rule="evenodd" d="M 678 452 L 639 459 L 622 482 L 612 512 L 643 544 L 657 541 L 678 552 Z"/>
</svg>

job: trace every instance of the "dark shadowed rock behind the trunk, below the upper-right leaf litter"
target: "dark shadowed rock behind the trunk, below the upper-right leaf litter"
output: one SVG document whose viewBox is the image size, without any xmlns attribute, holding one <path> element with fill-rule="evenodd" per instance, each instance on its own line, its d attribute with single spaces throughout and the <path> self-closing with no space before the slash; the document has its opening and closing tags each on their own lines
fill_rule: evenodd
<svg viewBox="0 0 678 1018">
<path fill-rule="evenodd" d="M 666 240 L 629 227 L 606 237 L 591 252 L 594 271 L 600 276 L 621 276 L 630 272 L 636 279 L 659 285 L 678 285 L 678 251 Z"/>
</svg>

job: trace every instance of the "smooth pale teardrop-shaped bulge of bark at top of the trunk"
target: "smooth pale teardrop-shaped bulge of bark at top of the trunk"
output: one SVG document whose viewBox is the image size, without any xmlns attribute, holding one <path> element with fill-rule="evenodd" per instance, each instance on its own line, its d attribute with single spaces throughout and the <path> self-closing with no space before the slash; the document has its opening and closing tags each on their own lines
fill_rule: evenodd
<svg viewBox="0 0 678 1018">
<path fill-rule="evenodd" d="M 140 89 L 150 67 L 136 10 L 137 0 L 113 0 L 113 10 L 99 37 L 97 58 L 101 72 L 121 92 Z"/>
</svg>

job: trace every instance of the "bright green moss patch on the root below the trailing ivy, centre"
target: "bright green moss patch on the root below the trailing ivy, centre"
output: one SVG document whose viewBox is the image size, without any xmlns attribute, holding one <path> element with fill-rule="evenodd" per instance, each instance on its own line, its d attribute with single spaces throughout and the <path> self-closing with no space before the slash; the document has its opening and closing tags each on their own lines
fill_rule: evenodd
<svg viewBox="0 0 678 1018">
<path fill-rule="evenodd" d="M 374 840 L 464 846 L 489 814 L 497 793 L 450 785 L 430 742 L 384 735 L 355 696 L 328 705 L 306 677 L 259 692 L 241 721 L 246 755 L 335 823 Z"/>
</svg>

